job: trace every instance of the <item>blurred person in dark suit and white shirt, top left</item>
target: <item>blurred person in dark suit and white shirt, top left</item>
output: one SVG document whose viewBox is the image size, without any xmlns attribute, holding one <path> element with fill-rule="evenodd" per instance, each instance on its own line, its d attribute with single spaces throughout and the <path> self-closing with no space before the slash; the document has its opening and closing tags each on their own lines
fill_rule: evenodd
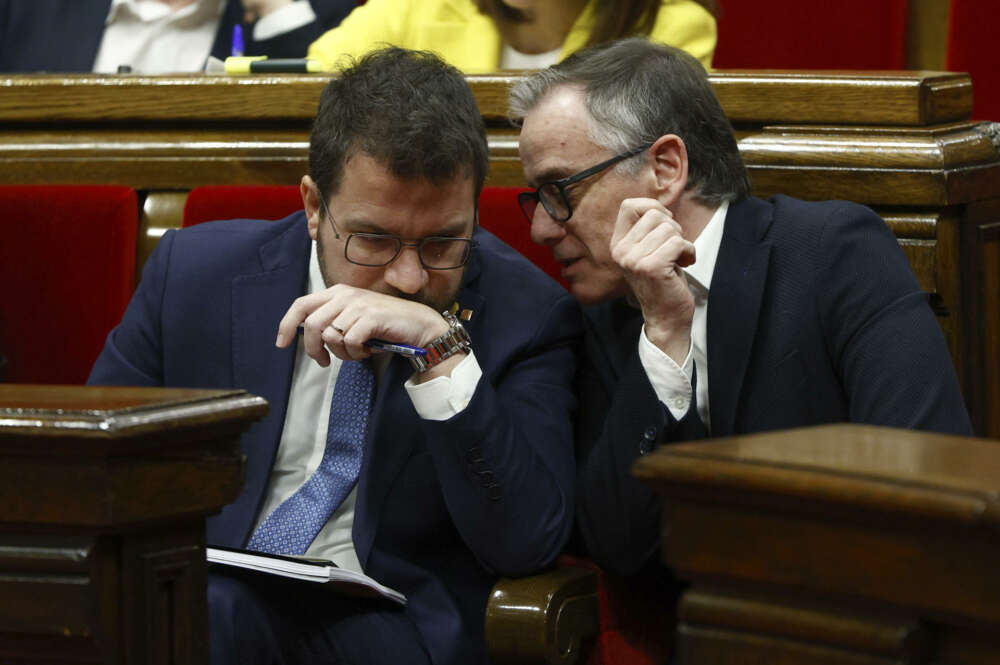
<svg viewBox="0 0 1000 665">
<path fill-rule="evenodd" d="M 0 72 L 202 71 L 208 56 L 301 58 L 356 0 L 0 0 Z"/>
</svg>

